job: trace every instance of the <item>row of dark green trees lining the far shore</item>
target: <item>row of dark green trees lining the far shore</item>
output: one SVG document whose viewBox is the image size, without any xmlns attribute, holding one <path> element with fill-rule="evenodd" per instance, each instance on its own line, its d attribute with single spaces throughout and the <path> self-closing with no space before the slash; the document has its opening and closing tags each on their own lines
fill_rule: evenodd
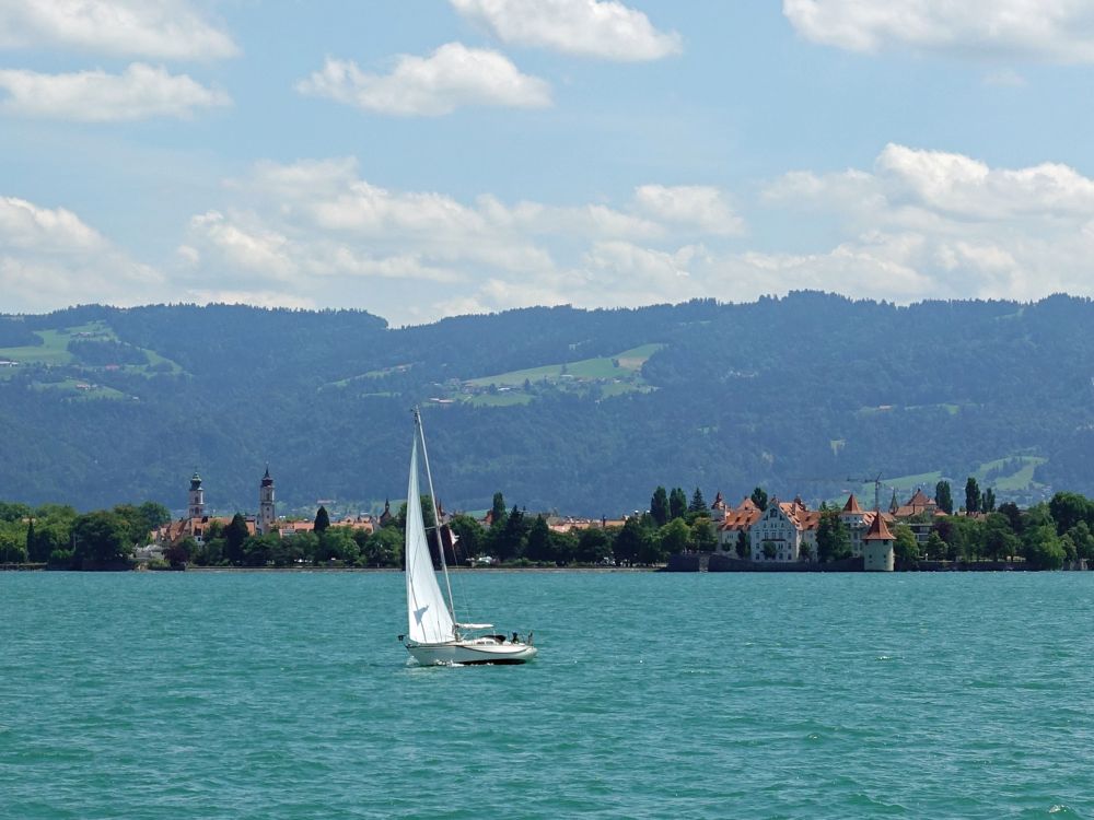
<svg viewBox="0 0 1094 820">
<path fill-rule="evenodd" d="M 970 480 L 971 481 L 971 480 Z M 943 484 L 945 484 L 943 487 Z M 950 487 L 935 488 L 940 509 L 892 525 L 897 570 L 938 569 L 940 562 L 991 562 L 1009 567 L 1083 567 L 1094 559 L 1094 501 L 1058 492 L 1027 508 L 1013 502 L 996 506 L 993 493 L 966 487 L 966 506 L 954 508 Z M 749 496 L 763 512 L 763 488 Z M 422 504 L 432 532 L 432 504 Z M 839 565 L 852 554 L 852 534 L 838 505 L 821 505 L 815 534 L 795 561 Z M 880 511 L 878 511 L 880 513 Z M 671 555 L 718 553 L 745 561 L 747 532 L 725 532 L 723 512 L 696 489 L 659 487 L 650 508 L 617 520 L 574 520 L 533 514 L 505 504 L 496 493 L 481 518 L 442 514 L 441 541 L 450 565 L 557 567 L 664 565 Z M 387 567 L 403 566 L 406 506 L 369 529 L 333 525 L 318 508 L 306 531 L 256 535 L 242 514 L 210 520 L 202 537 L 156 542 L 171 514 L 158 502 L 119 504 L 80 513 L 62 504 L 38 507 L 0 502 L 0 565 L 7 569 L 102 570 L 183 567 Z M 845 516 L 846 518 L 846 516 Z M 926 535 L 924 535 L 926 534 Z M 726 537 L 726 536 L 730 537 Z M 771 549 L 763 543 L 763 550 Z M 435 551 L 435 547 L 434 547 Z M 773 558 L 773 555 L 765 555 Z M 435 558 L 435 555 L 434 555 Z"/>
</svg>

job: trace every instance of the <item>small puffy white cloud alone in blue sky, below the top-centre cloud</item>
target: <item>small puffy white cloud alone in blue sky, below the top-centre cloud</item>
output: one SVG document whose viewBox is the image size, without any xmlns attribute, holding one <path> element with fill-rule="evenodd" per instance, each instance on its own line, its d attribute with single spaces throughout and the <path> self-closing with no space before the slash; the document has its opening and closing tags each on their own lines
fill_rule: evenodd
<svg viewBox="0 0 1094 820">
<path fill-rule="evenodd" d="M 403 55 L 383 75 L 365 73 L 351 60 L 328 58 L 296 90 L 399 116 L 440 116 L 468 105 L 543 108 L 551 103 L 545 81 L 522 74 L 498 51 L 461 43 L 447 43 L 429 57 Z"/>
</svg>

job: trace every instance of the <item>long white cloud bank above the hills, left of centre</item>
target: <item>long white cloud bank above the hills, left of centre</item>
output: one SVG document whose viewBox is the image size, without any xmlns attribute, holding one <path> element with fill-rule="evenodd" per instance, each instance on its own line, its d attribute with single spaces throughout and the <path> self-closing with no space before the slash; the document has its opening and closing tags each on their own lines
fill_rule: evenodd
<svg viewBox="0 0 1094 820">
<path fill-rule="evenodd" d="M 461 200 L 361 178 L 353 159 L 264 162 L 230 180 L 231 207 L 200 214 L 177 257 L 195 284 L 268 280 L 397 321 L 528 304 L 640 305 L 705 295 L 695 271 L 740 227 L 709 186 L 640 186 L 608 202 Z M 684 241 L 686 238 L 686 241 Z M 228 283 L 231 284 L 228 284 Z"/>
</svg>

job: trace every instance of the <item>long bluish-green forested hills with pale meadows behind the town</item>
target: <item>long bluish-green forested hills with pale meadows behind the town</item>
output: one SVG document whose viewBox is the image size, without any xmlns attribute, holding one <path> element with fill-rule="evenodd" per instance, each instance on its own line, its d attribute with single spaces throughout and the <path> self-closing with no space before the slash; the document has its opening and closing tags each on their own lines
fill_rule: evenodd
<svg viewBox="0 0 1094 820">
<path fill-rule="evenodd" d="M 1094 494 L 1094 304 L 793 293 L 528 308 L 392 329 L 364 312 L 83 306 L 0 317 L 0 499 L 357 512 L 405 494 L 421 403 L 438 494 L 617 515 L 657 484 L 834 497 L 976 475 Z M 11 364 L 14 362 L 15 364 Z M 869 485 L 872 496 L 872 484 Z M 872 497 L 871 497 L 872 500 Z"/>
</svg>

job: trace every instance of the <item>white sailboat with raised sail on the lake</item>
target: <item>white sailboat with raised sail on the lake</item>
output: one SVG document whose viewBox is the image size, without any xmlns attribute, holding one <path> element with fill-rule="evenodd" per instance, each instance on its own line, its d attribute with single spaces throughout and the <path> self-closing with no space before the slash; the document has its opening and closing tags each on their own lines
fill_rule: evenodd
<svg viewBox="0 0 1094 820">
<path fill-rule="evenodd" d="M 441 593 L 430 555 L 426 525 L 421 517 L 421 495 L 418 493 L 418 444 L 426 467 L 429 496 L 433 505 L 433 520 L 439 523 L 437 495 L 433 493 L 433 478 L 429 471 L 429 455 L 426 453 L 426 434 L 421 426 L 421 414 L 414 410 L 415 437 L 410 448 L 410 482 L 407 487 L 406 518 L 406 578 L 407 620 L 409 631 L 399 635 L 407 651 L 423 666 L 438 664 L 524 664 L 536 656 L 532 645 L 532 633 L 523 641 L 514 632 L 512 637 L 487 634 L 493 629 L 490 623 L 459 623 L 452 605 L 452 584 L 449 566 L 444 561 L 444 546 L 440 527 L 432 527 L 437 539 L 437 551 L 441 558 L 441 570 L 447 598 Z"/>
</svg>

